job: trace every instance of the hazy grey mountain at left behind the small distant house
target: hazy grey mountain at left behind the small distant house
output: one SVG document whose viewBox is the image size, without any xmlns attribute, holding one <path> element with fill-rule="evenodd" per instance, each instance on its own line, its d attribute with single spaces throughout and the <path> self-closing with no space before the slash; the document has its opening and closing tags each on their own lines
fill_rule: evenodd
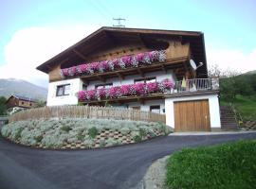
<svg viewBox="0 0 256 189">
<path fill-rule="evenodd" d="M 16 78 L 0 78 L 0 96 L 9 97 L 11 94 L 22 95 L 38 100 L 46 100 L 46 88 L 39 87 L 26 80 Z"/>
</svg>

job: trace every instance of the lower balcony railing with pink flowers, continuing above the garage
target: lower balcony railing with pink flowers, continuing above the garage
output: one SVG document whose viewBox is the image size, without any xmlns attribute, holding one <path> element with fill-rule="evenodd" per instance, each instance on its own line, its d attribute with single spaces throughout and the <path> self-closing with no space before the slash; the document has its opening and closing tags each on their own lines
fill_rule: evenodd
<svg viewBox="0 0 256 189">
<path fill-rule="evenodd" d="M 219 80 L 214 78 L 193 78 L 176 81 L 164 79 L 161 82 L 137 83 L 121 85 L 109 89 L 80 91 L 78 98 L 84 103 L 99 101 L 138 100 L 140 98 L 162 98 L 165 94 L 185 94 L 196 92 L 216 91 Z"/>
</svg>

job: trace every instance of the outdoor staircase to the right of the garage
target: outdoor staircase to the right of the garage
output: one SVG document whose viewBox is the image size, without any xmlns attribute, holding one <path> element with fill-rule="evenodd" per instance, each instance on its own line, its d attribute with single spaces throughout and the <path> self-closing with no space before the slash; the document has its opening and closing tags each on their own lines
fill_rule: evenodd
<svg viewBox="0 0 256 189">
<path fill-rule="evenodd" d="M 221 129 L 237 130 L 238 125 L 235 119 L 235 114 L 230 107 L 220 107 L 221 111 Z"/>
</svg>

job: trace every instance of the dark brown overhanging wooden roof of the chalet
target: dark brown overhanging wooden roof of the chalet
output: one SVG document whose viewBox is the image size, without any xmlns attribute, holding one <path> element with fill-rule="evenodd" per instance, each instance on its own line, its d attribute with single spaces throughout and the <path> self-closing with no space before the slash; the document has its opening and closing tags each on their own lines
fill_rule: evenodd
<svg viewBox="0 0 256 189">
<path fill-rule="evenodd" d="M 204 34 L 199 31 L 141 29 L 141 28 L 120 28 L 103 26 L 94 33 L 75 43 L 60 54 L 37 67 L 38 70 L 48 73 L 58 63 L 64 61 L 82 61 L 82 57 L 94 52 L 99 46 L 113 46 L 117 43 L 148 43 L 157 38 L 178 37 L 182 43 L 191 43 L 193 60 L 202 61 L 204 65 L 197 72 L 207 74 L 207 60 L 205 52 Z M 83 59 L 83 61 L 84 61 Z"/>
</svg>

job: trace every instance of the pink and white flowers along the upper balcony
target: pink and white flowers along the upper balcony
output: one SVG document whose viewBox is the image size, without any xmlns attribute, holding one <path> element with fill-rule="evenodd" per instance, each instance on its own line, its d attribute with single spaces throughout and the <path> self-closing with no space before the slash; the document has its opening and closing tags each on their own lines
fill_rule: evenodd
<svg viewBox="0 0 256 189">
<path fill-rule="evenodd" d="M 138 53 L 134 56 L 124 56 L 114 60 L 102 60 L 91 63 L 83 63 L 81 65 L 64 68 L 61 70 L 62 77 L 89 76 L 98 73 L 115 71 L 118 69 L 126 69 L 138 67 L 141 65 L 152 64 L 155 61 L 166 60 L 164 50 L 155 50 L 151 52 Z"/>
</svg>

